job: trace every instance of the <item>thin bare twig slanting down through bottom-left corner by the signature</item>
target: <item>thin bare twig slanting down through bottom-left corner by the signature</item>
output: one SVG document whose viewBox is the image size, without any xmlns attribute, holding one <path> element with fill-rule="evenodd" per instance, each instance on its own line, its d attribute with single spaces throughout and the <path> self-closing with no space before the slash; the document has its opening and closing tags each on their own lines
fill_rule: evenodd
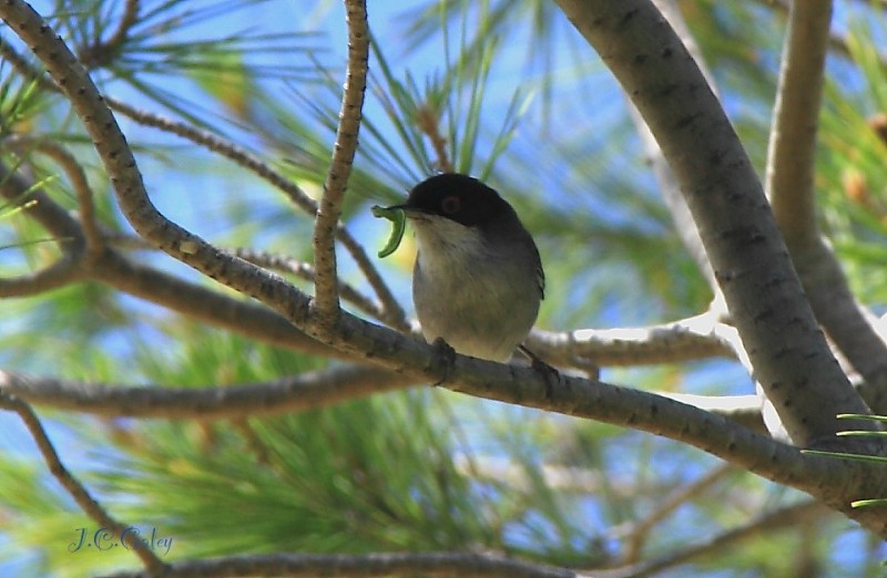
<svg viewBox="0 0 887 578">
<path fill-rule="evenodd" d="M 33 412 L 31 406 L 14 394 L 7 393 L 6 391 L 1 390 L 0 406 L 19 414 L 21 421 L 24 422 L 24 426 L 28 427 L 31 437 L 33 437 L 34 442 L 37 443 L 40 454 L 43 456 L 43 461 L 47 463 L 47 466 L 49 466 L 50 473 L 53 475 L 53 477 L 55 477 L 55 479 L 59 481 L 59 483 L 71 495 L 71 497 L 74 498 L 74 502 L 77 502 L 78 506 L 80 506 L 88 516 L 90 516 L 102 527 L 108 528 L 109 531 L 120 536 L 120 539 L 126 544 L 128 549 L 132 550 L 136 556 L 139 556 L 139 558 L 141 558 L 142 564 L 146 568 L 146 576 L 163 574 L 165 565 L 154 555 L 151 548 L 142 545 L 133 533 L 125 531 L 129 526 L 118 522 L 108 512 L 105 512 L 104 508 L 102 508 L 102 506 L 95 500 L 95 498 L 90 495 L 89 491 L 68 471 L 67 467 L 64 467 L 64 464 L 62 464 L 61 460 L 59 460 L 59 454 L 52 446 L 52 442 L 50 442 L 49 437 L 47 436 L 47 432 L 43 430 L 40 419 Z"/>
</svg>

